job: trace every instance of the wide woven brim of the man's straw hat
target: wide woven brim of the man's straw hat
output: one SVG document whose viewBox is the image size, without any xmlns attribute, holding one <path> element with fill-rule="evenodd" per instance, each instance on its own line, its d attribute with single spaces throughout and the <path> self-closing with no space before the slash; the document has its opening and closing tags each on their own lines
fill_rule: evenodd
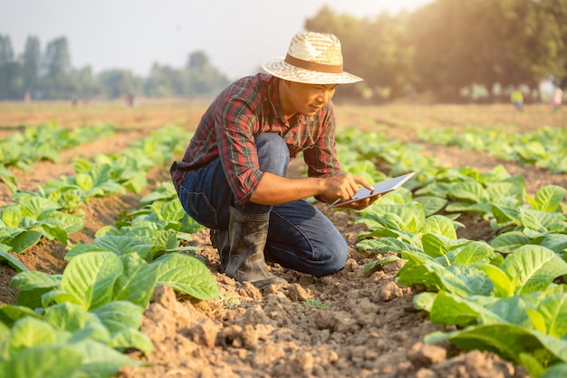
<svg viewBox="0 0 567 378">
<path fill-rule="evenodd" d="M 351 84 L 361 82 L 362 79 L 351 73 L 321 73 L 306 70 L 287 63 L 283 58 L 272 58 L 262 63 L 266 73 L 290 82 L 303 82 L 306 84 Z"/>
</svg>

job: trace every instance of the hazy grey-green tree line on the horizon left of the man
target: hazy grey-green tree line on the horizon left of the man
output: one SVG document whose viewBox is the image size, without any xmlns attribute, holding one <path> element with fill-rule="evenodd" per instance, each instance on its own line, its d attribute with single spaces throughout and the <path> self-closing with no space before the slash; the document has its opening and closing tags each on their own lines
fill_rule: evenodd
<svg viewBox="0 0 567 378">
<path fill-rule="evenodd" d="M 72 67 L 66 37 L 54 39 L 42 51 L 39 39 L 28 36 L 24 53 L 16 56 L 9 35 L 0 34 L 0 100 L 208 96 L 227 83 L 201 51 L 190 53 L 181 68 L 154 63 L 145 78 L 120 69 L 94 74 L 90 66 Z"/>
</svg>

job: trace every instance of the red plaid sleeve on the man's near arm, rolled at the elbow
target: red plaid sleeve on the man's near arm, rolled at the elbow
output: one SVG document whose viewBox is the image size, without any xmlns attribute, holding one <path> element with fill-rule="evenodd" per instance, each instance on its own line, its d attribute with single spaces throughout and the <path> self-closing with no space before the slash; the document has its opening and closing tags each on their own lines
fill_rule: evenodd
<svg viewBox="0 0 567 378">
<path fill-rule="evenodd" d="M 243 204 L 250 200 L 263 175 L 255 147 L 258 120 L 241 100 L 222 106 L 216 111 L 215 121 L 219 158 L 236 203 Z"/>
</svg>

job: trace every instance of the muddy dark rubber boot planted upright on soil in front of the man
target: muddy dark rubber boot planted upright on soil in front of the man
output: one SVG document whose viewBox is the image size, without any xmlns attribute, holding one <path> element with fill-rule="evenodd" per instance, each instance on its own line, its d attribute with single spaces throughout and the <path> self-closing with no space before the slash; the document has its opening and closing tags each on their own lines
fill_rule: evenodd
<svg viewBox="0 0 567 378">
<path fill-rule="evenodd" d="M 226 276 L 236 281 L 249 281 L 254 286 L 283 285 L 283 278 L 272 274 L 265 266 L 264 247 L 268 237 L 270 213 L 248 214 L 230 208 L 228 235 L 230 258 Z"/>
</svg>

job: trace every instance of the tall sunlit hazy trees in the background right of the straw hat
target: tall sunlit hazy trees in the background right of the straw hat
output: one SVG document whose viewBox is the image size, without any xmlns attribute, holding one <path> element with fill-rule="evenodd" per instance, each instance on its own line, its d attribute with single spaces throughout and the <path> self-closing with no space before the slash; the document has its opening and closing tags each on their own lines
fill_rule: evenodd
<svg viewBox="0 0 567 378">
<path fill-rule="evenodd" d="M 305 23 L 341 40 L 345 68 L 389 97 L 526 85 L 567 73 L 567 0 L 436 0 L 373 20 L 324 7 Z"/>
</svg>

